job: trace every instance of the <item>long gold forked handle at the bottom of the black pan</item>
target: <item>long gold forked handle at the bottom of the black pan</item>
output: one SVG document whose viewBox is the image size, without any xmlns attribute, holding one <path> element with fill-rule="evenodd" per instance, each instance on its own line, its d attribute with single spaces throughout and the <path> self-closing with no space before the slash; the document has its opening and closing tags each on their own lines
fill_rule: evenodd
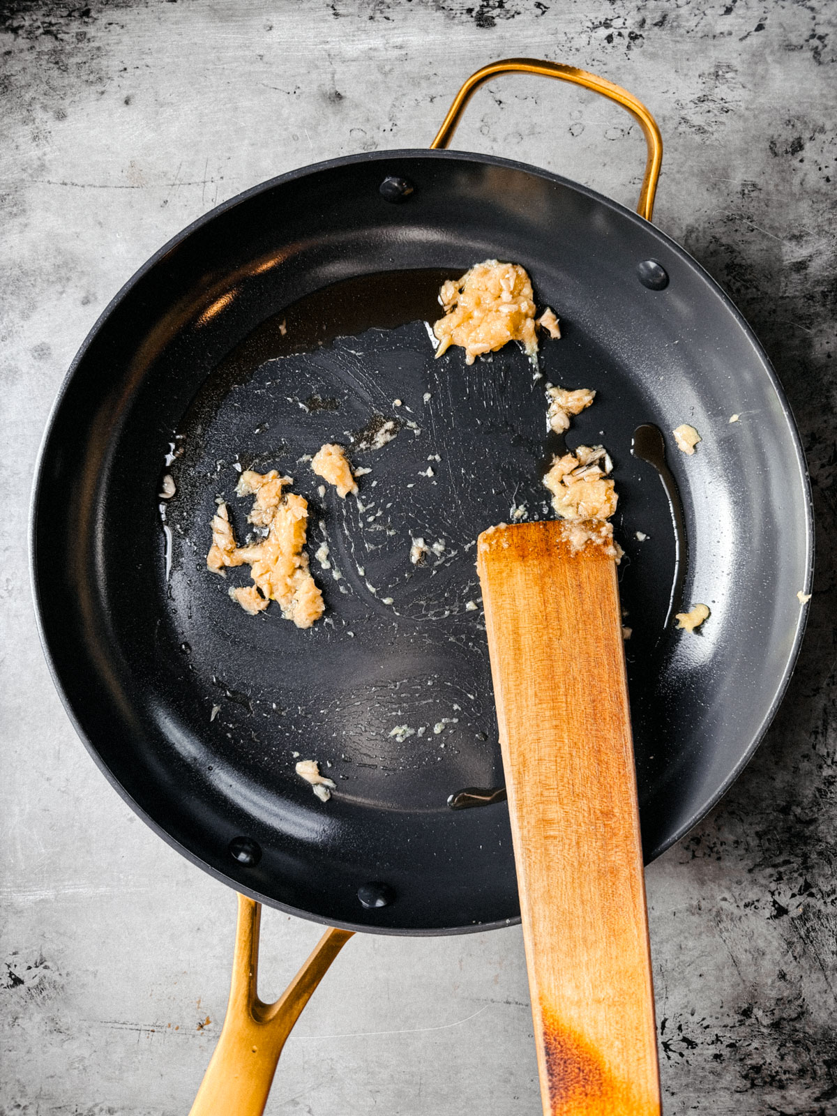
<svg viewBox="0 0 837 1116">
<path fill-rule="evenodd" d="M 276 1003 L 257 993 L 261 904 L 239 895 L 227 1016 L 190 1116 L 261 1116 L 279 1055 L 326 970 L 352 937 L 329 929 Z"/>
</svg>

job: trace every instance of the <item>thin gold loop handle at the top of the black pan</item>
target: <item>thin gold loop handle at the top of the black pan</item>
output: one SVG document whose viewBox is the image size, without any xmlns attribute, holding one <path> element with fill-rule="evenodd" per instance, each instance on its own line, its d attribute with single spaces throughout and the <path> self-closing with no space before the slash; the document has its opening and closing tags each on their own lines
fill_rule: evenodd
<svg viewBox="0 0 837 1116">
<path fill-rule="evenodd" d="M 637 100 L 633 94 L 629 94 L 627 89 L 623 89 L 622 86 L 614 85 L 613 81 L 608 81 L 604 77 L 598 77 L 596 74 L 588 74 L 587 70 L 576 69 L 575 66 L 564 66 L 560 62 L 543 62 L 537 58 L 506 58 L 502 61 L 483 66 L 482 69 L 471 75 L 456 94 L 436 138 L 430 145 L 431 148 L 449 146 L 473 94 L 485 81 L 490 81 L 492 77 L 499 77 L 501 74 L 540 74 L 543 77 L 557 77 L 561 81 L 571 81 L 574 85 L 583 85 L 585 89 L 593 89 L 594 93 L 600 93 L 603 97 L 615 100 L 617 105 L 622 105 L 623 108 L 627 109 L 643 129 L 645 143 L 648 148 L 648 155 L 645 161 L 645 176 L 643 177 L 636 212 L 639 217 L 644 217 L 646 221 L 651 221 L 651 214 L 654 212 L 654 194 L 657 190 L 660 167 L 663 164 L 663 137 L 660 135 L 656 121 L 645 105 L 641 100 Z"/>
</svg>

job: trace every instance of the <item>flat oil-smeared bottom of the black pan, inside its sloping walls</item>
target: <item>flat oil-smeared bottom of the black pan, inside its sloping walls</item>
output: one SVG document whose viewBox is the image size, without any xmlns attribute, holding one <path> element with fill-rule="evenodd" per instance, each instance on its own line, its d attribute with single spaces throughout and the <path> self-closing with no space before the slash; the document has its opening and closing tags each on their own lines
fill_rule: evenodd
<svg viewBox="0 0 837 1116">
<path fill-rule="evenodd" d="M 663 488 L 629 453 L 647 407 L 571 325 L 541 343 L 537 372 L 514 345 L 471 366 L 458 349 L 435 360 L 427 323 L 450 276 L 377 273 L 283 309 L 208 378 L 173 436 L 167 578 L 162 529 L 156 540 L 161 652 L 183 677 L 203 762 L 246 775 L 268 812 L 290 798 L 328 818 L 339 798 L 340 808 L 446 815 L 463 787 L 502 785 L 474 541 L 492 523 L 551 518 L 540 481 L 561 450 L 545 421 L 550 382 L 596 389 L 567 441 L 604 441 L 615 456 L 626 624 L 642 616 L 628 655 L 636 748 L 641 769 L 654 768 L 647 713 L 658 700 L 674 547 Z M 362 449 L 385 422 L 396 436 Z M 311 472 L 325 442 L 369 470 L 357 499 L 341 500 Z M 230 585 L 250 584 L 249 567 L 225 578 L 205 569 L 215 499 L 239 540 L 251 530 L 251 501 L 234 494 L 241 469 L 277 469 L 308 500 L 308 551 L 327 608 L 310 631 L 283 622 L 278 606 L 251 617 L 229 599 Z M 427 550 L 414 564 L 416 539 Z M 333 802 L 300 783 L 299 757 L 337 782 Z"/>
</svg>

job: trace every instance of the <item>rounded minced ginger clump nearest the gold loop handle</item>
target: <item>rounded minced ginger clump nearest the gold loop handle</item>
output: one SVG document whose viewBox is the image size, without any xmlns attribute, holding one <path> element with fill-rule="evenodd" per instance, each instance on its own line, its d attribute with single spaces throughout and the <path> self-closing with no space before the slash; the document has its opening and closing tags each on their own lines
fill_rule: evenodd
<svg viewBox="0 0 837 1116">
<path fill-rule="evenodd" d="M 550 336 L 560 337 L 558 319 L 549 307 L 536 323 L 532 285 L 519 263 L 475 263 L 460 279 L 443 283 L 439 300 L 444 317 L 433 326 L 437 357 L 451 345 L 459 345 L 465 350 L 465 364 L 473 364 L 481 353 L 496 353 L 509 341 L 520 341 L 532 358 L 538 352 L 537 324 Z"/>
</svg>

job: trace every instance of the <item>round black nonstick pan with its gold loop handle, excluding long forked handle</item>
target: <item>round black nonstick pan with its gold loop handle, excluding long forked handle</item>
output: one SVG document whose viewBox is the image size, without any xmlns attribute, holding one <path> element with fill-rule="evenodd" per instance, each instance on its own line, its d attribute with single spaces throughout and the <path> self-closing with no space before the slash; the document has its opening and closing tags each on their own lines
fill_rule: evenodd
<svg viewBox="0 0 837 1116">
<path fill-rule="evenodd" d="M 40 459 L 41 635 L 94 759 L 194 863 L 353 930 L 519 916 L 473 548 L 492 523 L 549 513 L 547 382 L 596 389 L 567 441 L 603 442 L 615 463 L 648 860 L 752 754 L 802 633 L 812 532 L 793 420 L 730 300 L 645 219 L 660 167 L 647 113 L 602 79 L 518 59 L 474 75 L 437 146 L 473 88 L 513 70 L 597 88 L 641 119 L 643 217 L 442 150 L 282 175 L 195 222 L 119 292 Z M 526 267 L 561 320 L 537 373 L 514 346 L 472 366 L 461 349 L 434 359 L 441 281 L 485 258 Z M 395 437 L 375 449 L 386 422 Z M 702 437 L 691 458 L 671 436 L 684 422 Z M 665 462 L 660 435 L 637 434 L 648 425 Z M 306 458 L 328 441 L 371 470 L 359 502 L 318 491 Z M 206 570 L 217 498 L 247 531 L 233 491 L 247 468 L 290 474 L 309 501 L 327 606 L 309 631 L 231 602 L 246 569 Z M 710 620 L 675 631 L 672 612 L 695 602 Z M 330 801 L 298 758 L 336 782 Z"/>
</svg>

